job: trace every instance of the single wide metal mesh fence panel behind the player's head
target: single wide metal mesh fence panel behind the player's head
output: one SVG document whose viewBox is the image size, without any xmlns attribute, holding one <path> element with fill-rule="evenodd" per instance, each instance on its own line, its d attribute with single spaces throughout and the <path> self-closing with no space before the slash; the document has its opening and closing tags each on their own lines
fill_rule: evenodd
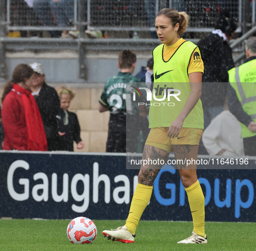
<svg viewBox="0 0 256 251">
<path fill-rule="evenodd" d="M 223 9 L 228 10 L 237 22 L 241 20 L 241 3 L 242 0 L 94 0 L 89 4 L 91 16 L 87 21 L 90 29 L 154 30 L 158 11 L 171 7 L 188 13 L 190 29 L 211 30 Z"/>
</svg>

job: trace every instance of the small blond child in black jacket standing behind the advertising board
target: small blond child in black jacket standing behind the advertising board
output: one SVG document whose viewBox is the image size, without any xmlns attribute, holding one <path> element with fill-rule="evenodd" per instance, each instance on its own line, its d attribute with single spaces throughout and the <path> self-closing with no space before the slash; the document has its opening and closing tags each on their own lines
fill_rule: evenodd
<svg viewBox="0 0 256 251">
<path fill-rule="evenodd" d="M 58 113 L 58 134 L 60 135 L 59 150 L 74 151 L 73 142 L 77 143 L 77 148 L 84 148 L 84 143 L 80 137 L 80 125 L 75 113 L 68 111 L 71 100 L 75 97 L 75 92 L 71 88 L 60 86 L 56 88 L 60 98 L 60 109 Z"/>
</svg>

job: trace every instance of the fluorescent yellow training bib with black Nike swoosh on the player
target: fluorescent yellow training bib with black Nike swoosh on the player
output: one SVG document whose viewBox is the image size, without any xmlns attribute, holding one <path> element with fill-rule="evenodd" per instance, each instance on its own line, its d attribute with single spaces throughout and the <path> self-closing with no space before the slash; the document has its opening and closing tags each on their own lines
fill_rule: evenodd
<svg viewBox="0 0 256 251">
<path fill-rule="evenodd" d="M 149 128 L 169 127 L 191 93 L 188 65 L 197 46 L 189 41 L 183 42 L 168 61 L 163 59 L 163 47 L 159 45 L 153 50 L 154 87 L 149 109 Z M 197 57 L 201 59 L 199 54 Z M 185 118 L 182 127 L 204 129 L 201 100 Z"/>
</svg>

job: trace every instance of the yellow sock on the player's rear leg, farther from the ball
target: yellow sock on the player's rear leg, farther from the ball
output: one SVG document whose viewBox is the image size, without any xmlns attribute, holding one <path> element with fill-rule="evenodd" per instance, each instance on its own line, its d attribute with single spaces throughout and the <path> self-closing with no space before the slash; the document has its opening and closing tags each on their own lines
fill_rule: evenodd
<svg viewBox="0 0 256 251">
<path fill-rule="evenodd" d="M 188 194 L 188 202 L 193 218 L 193 231 L 205 237 L 204 233 L 204 194 L 197 180 L 192 186 L 185 188 Z"/>
</svg>

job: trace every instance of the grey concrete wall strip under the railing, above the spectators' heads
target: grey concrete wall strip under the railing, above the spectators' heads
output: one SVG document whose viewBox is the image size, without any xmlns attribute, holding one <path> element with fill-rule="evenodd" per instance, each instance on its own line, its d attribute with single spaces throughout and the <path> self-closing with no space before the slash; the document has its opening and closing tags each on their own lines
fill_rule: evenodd
<svg viewBox="0 0 256 251">
<path fill-rule="evenodd" d="M 45 70 L 48 82 L 53 83 L 105 83 L 108 78 L 118 72 L 117 61 L 119 51 L 88 51 L 85 57 L 87 79 L 79 79 L 79 63 L 77 51 L 54 51 L 36 53 L 33 51 L 6 52 L 7 79 L 11 79 L 17 64 L 39 62 Z M 135 74 L 141 66 L 146 66 L 152 57 L 152 51 L 136 51 L 137 66 Z"/>
</svg>

